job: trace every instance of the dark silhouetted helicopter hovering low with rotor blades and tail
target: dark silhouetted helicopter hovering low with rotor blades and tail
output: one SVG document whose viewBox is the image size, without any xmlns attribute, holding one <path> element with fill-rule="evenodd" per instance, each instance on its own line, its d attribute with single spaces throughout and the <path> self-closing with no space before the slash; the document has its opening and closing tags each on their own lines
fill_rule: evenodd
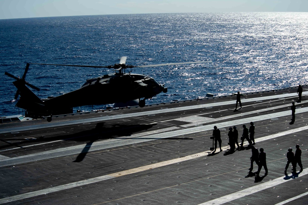
<svg viewBox="0 0 308 205">
<path fill-rule="evenodd" d="M 143 74 L 126 73 L 127 68 L 210 62 L 198 61 L 132 66 L 126 65 L 127 58 L 127 56 L 122 56 L 118 64 L 111 66 L 26 63 L 26 69 L 22 78 L 16 77 L 8 72 L 5 72 L 5 74 L 16 80 L 13 82 L 17 88 L 14 99 L 17 100 L 19 95 L 20 98 L 15 106 L 24 109 L 26 111 L 26 117 L 38 119 L 47 116 L 47 121 L 51 122 L 53 115 L 73 113 L 73 107 L 128 102 L 136 99 L 139 99 L 139 106 L 144 107 L 146 99 L 150 99 L 161 92 L 167 92 L 168 88 L 164 84 L 159 84 L 153 78 Z M 40 90 L 37 86 L 25 80 L 30 64 L 109 68 L 114 69 L 115 73 L 88 79 L 79 89 L 66 94 L 41 99 L 27 87 Z"/>
</svg>

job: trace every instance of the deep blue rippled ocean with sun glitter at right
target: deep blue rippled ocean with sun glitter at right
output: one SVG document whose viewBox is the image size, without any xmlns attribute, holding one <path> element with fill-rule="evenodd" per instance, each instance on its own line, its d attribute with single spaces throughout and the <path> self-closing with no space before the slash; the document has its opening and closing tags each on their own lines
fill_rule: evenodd
<svg viewBox="0 0 308 205">
<path fill-rule="evenodd" d="M 147 104 L 307 84 L 308 13 L 123 14 L 0 20 L 0 115 L 15 115 L 14 79 L 26 62 L 129 65 L 191 62 L 132 73 L 168 87 Z M 79 88 L 109 69 L 31 65 L 26 81 L 40 98 Z M 125 87 L 123 88 L 125 89 Z M 116 90 L 115 90 L 116 92 Z M 108 96 L 106 96 L 107 98 Z M 106 105 L 81 109 L 101 109 Z"/>
</svg>

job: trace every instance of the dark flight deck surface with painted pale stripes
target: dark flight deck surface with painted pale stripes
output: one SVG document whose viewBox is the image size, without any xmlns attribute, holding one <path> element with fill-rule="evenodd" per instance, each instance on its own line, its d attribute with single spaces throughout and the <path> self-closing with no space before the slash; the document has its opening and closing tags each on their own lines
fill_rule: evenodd
<svg viewBox="0 0 308 205">
<path fill-rule="evenodd" d="M 238 111 L 233 111 L 235 97 L 215 98 L 50 124 L 1 125 L 0 203 L 305 204 L 308 91 L 303 88 L 300 103 L 296 88 L 290 88 L 246 95 Z M 291 102 L 297 107 L 294 124 Z M 247 141 L 234 153 L 227 143 L 229 127 L 237 126 L 241 135 L 241 125 L 251 121 L 255 146 L 264 148 L 269 168 L 268 175 L 262 168 L 259 178 L 249 174 Z M 223 151 L 209 155 L 214 125 L 221 129 Z M 284 175 L 287 150 L 295 152 L 296 144 L 304 170 L 291 173 L 290 165 Z"/>
</svg>

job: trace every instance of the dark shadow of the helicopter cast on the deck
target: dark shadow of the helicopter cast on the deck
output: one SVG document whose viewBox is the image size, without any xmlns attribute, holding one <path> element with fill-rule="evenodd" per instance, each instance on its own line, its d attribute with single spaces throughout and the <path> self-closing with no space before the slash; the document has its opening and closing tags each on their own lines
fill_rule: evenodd
<svg viewBox="0 0 308 205">
<path fill-rule="evenodd" d="M 104 140 L 104 139 L 136 139 L 134 137 L 129 137 L 133 135 L 134 133 L 138 133 L 140 131 L 148 130 L 152 128 L 153 126 L 156 126 L 157 124 L 132 124 L 132 125 L 120 125 L 120 124 L 114 124 L 111 127 L 104 127 L 104 122 L 97 123 L 94 129 L 91 130 L 84 130 L 77 133 L 73 133 L 70 135 L 58 135 L 55 137 L 40 137 L 37 139 L 27 139 L 26 137 L 24 139 L 15 138 L 15 139 L 3 139 L 1 140 L 4 143 L 7 143 L 7 145 L 1 146 L 0 149 L 5 149 L 9 147 L 20 147 L 22 149 L 25 149 L 22 147 L 23 144 L 26 143 L 44 143 L 44 142 L 51 142 L 51 141 L 75 141 L 75 142 L 87 142 L 83 150 L 80 152 L 80 154 L 77 156 L 74 162 L 81 162 L 85 156 L 87 155 L 88 151 L 90 150 L 92 144 L 97 140 Z M 121 138 L 127 136 L 127 138 Z M 154 138 L 143 138 L 143 139 L 154 139 Z M 155 138 L 157 139 L 157 138 Z M 160 139 L 160 138 L 158 138 Z M 192 139 L 192 138 L 161 138 L 161 139 Z M 7 141 L 18 141 L 16 143 L 10 143 Z M 45 150 L 46 147 L 44 147 Z"/>
</svg>

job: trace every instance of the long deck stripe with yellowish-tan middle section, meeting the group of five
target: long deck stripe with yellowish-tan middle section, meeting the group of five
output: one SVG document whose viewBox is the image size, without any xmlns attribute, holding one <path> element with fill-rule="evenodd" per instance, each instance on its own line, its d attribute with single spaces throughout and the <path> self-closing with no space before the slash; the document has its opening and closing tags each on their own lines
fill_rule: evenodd
<svg viewBox="0 0 308 205">
<path fill-rule="evenodd" d="M 267 140 L 267 139 L 272 139 L 272 138 L 280 137 L 280 136 L 283 136 L 283 135 L 288 135 L 288 134 L 291 134 L 291 133 L 295 133 L 295 132 L 299 132 L 299 131 L 303 131 L 303 130 L 307 130 L 307 129 L 308 129 L 308 125 L 305 126 L 305 127 L 300 127 L 300 128 L 296 128 L 296 129 L 293 129 L 293 130 L 277 133 L 277 134 L 274 134 L 274 135 L 261 137 L 261 138 L 256 139 L 256 141 L 261 142 L 261 141 L 264 141 L 264 140 Z M 248 144 L 248 142 L 246 141 L 244 143 L 244 145 L 247 145 L 247 144 Z M 222 149 L 225 150 L 228 147 L 229 146 L 225 146 L 225 147 L 222 147 Z M 209 152 L 210 151 L 204 151 L 204 152 L 200 152 L 200 153 L 197 153 L 197 154 L 188 155 L 188 156 L 176 158 L 176 159 L 171 159 L 171 160 L 167 160 L 167 161 L 159 162 L 159 163 L 155 163 L 155 164 L 150 164 L 150 165 L 146 165 L 146 166 L 143 166 L 143 167 L 136 167 L 136 168 L 133 168 L 133 169 L 130 169 L 130 170 L 120 171 L 120 172 L 116 172 L 116 173 L 109 174 L 109 175 L 103 175 L 103 176 L 99 176 L 99 177 L 95 177 L 95 178 L 91 178 L 91 179 L 85 179 L 85 180 L 78 181 L 78 182 L 63 184 L 63 185 L 60 185 L 60 186 L 57 186 L 57 187 L 51 187 L 51 188 L 47 188 L 47 189 L 42 189 L 42 190 L 38 190 L 38 191 L 32 191 L 32 192 L 29 192 L 29 193 L 15 195 L 15 196 L 11 196 L 11 197 L 6 197 L 6 198 L 0 199 L 0 204 L 12 202 L 12 201 L 17 201 L 17 200 L 21 200 L 21 199 L 26 199 L 26 198 L 30 198 L 30 197 L 34 197 L 34 196 L 44 195 L 44 194 L 51 193 L 51 192 L 62 191 L 62 190 L 65 190 L 65 189 L 83 186 L 83 185 L 90 184 L 90 183 L 96 183 L 96 182 L 104 181 L 104 180 L 107 180 L 107 179 L 125 176 L 125 175 L 129 175 L 129 174 L 133 174 L 133 173 L 137 173 L 137 172 L 141 172 L 141 171 L 149 171 L 149 170 L 154 169 L 154 168 L 163 167 L 163 166 L 166 166 L 166 165 L 171 165 L 171 164 L 174 164 L 174 163 L 183 162 L 183 161 L 187 161 L 187 160 L 190 160 L 190 159 L 197 159 L 199 157 L 207 156 L 209 154 Z M 308 174 L 308 168 L 304 169 L 304 171 L 302 173 Z M 278 178 L 278 179 L 280 179 L 280 178 Z M 257 186 L 259 186 L 259 185 L 257 185 Z M 251 187 L 252 190 L 255 190 L 254 187 Z M 241 195 L 241 196 L 243 196 L 243 195 Z"/>
</svg>

